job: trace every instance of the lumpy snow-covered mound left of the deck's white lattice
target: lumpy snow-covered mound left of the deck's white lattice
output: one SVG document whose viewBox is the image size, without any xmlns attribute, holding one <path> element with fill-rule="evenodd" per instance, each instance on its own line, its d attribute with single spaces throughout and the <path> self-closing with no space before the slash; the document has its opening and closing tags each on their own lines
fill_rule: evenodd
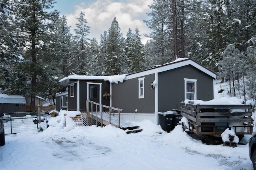
<svg viewBox="0 0 256 170">
<path fill-rule="evenodd" d="M 68 131 L 76 126 L 72 118 L 80 114 L 81 114 L 80 111 L 60 110 L 59 115 L 57 117 L 50 119 L 48 122 L 48 125 L 52 127 L 61 127 Z M 66 122 L 66 126 L 65 126 L 65 122 Z"/>
</svg>

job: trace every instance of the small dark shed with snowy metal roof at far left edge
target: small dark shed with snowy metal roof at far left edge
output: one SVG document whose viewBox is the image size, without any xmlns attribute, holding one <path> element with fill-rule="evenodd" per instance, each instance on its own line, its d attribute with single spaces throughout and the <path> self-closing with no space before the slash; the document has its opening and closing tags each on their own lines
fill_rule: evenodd
<svg viewBox="0 0 256 170">
<path fill-rule="evenodd" d="M 0 113 L 26 112 L 26 99 L 20 95 L 0 94 Z M 23 116 L 23 115 L 17 115 Z"/>
</svg>

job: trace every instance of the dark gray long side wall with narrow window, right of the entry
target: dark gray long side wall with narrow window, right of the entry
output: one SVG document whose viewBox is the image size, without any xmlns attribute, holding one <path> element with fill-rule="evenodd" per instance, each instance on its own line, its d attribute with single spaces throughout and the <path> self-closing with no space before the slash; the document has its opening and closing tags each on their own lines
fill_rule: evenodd
<svg viewBox="0 0 256 170">
<path fill-rule="evenodd" d="M 145 92 L 144 98 L 138 98 L 138 78 L 125 80 L 123 83 L 112 83 L 112 106 L 123 109 L 122 113 L 154 113 L 155 89 L 151 89 L 151 83 L 155 75 L 143 76 Z"/>
</svg>

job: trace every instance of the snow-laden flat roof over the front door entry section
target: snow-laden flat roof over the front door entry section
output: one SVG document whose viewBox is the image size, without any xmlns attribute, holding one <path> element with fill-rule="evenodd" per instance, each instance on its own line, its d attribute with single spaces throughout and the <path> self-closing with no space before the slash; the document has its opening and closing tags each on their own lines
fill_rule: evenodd
<svg viewBox="0 0 256 170">
<path fill-rule="evenodd" d="M 110 83 L 123 82 L 126 74 L 123 75 L 110 75 L 110 76 L 92 76 L 92 75 L 69 75 L 68 77 L 64 77 L 60 79 L 60 83 L 62 85 L 68 85 L 71 79 L 74 80 L 104 80 L 110 81 Z"/>
</svg>

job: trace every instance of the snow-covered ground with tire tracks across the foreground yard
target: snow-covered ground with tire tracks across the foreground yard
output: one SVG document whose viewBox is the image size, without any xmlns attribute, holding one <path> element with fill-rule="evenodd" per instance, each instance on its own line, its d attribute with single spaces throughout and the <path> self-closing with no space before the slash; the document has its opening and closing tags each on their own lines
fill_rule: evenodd
<svg viewBox="0 0 256 170">
<path fill-rule="evenodd" d="M 0 147 L 0 169 L 253 170 L 250 135 L 243 138 L 247 144 L 232 148 L 203 144 L 180 125 L 167 133 L 147 120 L 136 124 L 142 132 L 126 134 L 110 125 L 62 128 L 57 124 L 43 132 L 6 135 L 6 144 Z"/>
</svg>

